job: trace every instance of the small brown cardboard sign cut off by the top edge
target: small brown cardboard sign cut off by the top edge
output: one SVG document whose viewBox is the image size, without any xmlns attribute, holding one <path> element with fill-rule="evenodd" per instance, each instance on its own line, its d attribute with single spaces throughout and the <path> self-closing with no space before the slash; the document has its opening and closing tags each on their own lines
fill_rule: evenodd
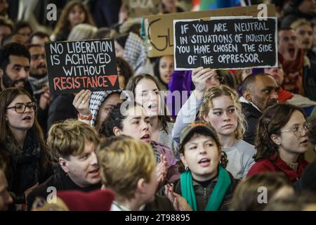
<svg viewBox="0 0 316 225">
<path fill-rule="evenodd" d="M 124 11 L 129 18 L 155 15 L 162 0 L 123 0 Z"/>
</svg>

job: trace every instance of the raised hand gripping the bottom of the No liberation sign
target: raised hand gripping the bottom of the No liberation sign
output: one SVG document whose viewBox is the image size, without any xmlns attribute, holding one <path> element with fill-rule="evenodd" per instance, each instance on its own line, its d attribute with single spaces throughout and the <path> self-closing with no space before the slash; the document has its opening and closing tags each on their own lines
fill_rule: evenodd
<svg viewBox="0 0 316 225">
<path fill-rule="evenodd" d="M 74 96 L 74 101 L 72 102 L 72 105 L 74 105 L 74 108 L 77 109 L 80 115 L 86 117 L 91 115 L 91 111 L 89 109 L 90 94 L 90 90 L 81 90 L 76 96 Z"/>
</svg>

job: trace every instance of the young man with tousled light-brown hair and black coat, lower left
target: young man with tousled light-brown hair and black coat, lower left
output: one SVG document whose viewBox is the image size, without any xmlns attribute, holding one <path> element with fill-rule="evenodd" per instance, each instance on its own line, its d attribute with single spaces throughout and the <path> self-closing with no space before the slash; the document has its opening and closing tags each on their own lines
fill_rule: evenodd
<svg viewBox="0 0 316 225">
<path fill-rule="evenodd" d="M 58 159 L 55 174 L 27 196 L 31 209 L 36 197 L 47 198 L 55 191 L 93 191 L 101 187 L 96 147 L 98 134 L 89 125 L 77 120 L 65 120 L 54 124 L 48 131 L 48 147 Z"/>
</svg>

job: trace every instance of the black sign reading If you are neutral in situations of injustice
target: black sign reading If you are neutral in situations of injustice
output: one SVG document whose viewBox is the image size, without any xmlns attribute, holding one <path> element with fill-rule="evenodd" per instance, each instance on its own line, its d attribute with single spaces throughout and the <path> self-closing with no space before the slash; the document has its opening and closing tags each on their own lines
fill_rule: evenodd
<svg viewBox="0 0 316 225">
<path fill-rule="evenodd" d="M 175 70 L 277 65 L 277 18 L 173 20 Z"/>
</svg>

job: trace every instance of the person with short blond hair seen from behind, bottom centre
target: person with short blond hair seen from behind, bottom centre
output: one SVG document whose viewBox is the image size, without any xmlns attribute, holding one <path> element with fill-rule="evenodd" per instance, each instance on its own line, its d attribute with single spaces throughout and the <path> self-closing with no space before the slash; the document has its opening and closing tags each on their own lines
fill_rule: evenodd
<svg viewBox="0 0 316 225">
<path fill-rule="evenodd" d="M 149 143 L 112 136 L 100 143 L 97 154 L 102 184 L 115 193 L 111 211 L 173 210 L 166 197 L 155 195 L 157 162 Z"/>
</svg>

